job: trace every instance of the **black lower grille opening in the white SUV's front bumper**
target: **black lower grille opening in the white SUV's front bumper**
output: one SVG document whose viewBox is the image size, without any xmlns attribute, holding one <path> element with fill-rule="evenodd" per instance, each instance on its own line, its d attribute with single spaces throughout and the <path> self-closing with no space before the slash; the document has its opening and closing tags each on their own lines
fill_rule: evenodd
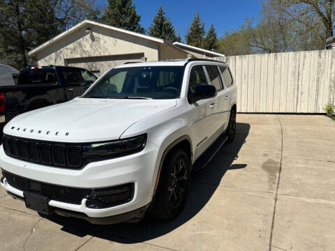
<svg viewBox="0 0 335 251">
<path fill-rule="evenodd" d="M 87 198 L 89 208 L 107 208 L 131 201 L 134 196 L 134 183 L 117 185 L 111 188 L 70 188 L 52 185 L 2 171 L 3 178 L 10 186 L 22 192 L 36 192 L 54 201 L 80 205 Z"/>
</svg>

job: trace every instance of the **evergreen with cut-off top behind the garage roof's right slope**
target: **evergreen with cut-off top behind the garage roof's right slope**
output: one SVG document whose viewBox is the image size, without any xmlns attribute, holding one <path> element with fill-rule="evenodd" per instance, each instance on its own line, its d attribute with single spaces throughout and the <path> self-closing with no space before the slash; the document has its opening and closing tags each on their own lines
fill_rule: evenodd
<svg viewBox="0 0 335 251">
<path fill-rule="evenodd" d="M 108 6 L 101 17 L 101 22 L 129 31 L 144 33 L 140 19 L 141 16 L 137 15 L 132 0 L 108 0 Z"/>
</svg>

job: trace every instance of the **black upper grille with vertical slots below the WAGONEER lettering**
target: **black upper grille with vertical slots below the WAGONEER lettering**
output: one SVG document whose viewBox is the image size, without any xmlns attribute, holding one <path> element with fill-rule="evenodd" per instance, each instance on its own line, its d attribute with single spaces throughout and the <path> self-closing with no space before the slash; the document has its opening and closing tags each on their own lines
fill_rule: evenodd
<svg viewBox="0 0 335 251">
<path fill-rule="evenodd" d="M 10 157 L 41 165 L 70 169 L 82 167 L 82 148 L 75 144 L 27 140 L 4 135 L 3 149 Z"/>
</svg>

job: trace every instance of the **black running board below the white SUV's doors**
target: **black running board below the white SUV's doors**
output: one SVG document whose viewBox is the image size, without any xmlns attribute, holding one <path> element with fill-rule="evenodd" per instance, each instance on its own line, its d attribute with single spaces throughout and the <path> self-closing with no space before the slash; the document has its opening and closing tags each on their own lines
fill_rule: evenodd
<svg viewBox="0 0 335 251">
<path fill-rule="evenodd" d="M 211 144 L 211 146 L 209 146 L 209 148 L 204 151 L 204 153 L 202 153 L 202 155 L 200 155 L 197 160 L 195 160 L 192 171 L 198 171 L 206 167 L 208 162 L 211 161 L 211 159 L 216 155 L 218 150 L 221 149 L 221 146 L 225 144 L 225 141 L 227 139 L 228 136 L 225 134 L 225 132 L 223 132 L 223 134 L 221 134 L 220 137 L 218 137 L 216 141 L 213 142 L 213 144 Z"/>
</svg>

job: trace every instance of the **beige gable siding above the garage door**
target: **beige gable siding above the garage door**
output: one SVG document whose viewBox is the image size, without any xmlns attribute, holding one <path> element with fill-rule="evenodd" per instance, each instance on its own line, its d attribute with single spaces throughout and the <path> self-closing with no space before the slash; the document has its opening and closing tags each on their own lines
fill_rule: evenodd
<svg viewBox="0 0 335 251">
<path fill-rule="evenodd" d="M 90 26 L 92 33 L 86 33 Z M 159 44 L 101 26 L 87 24 L 38 52 L 38 65 L 64 65 L 65 59 L 144 53 L 147 61 L 158 60 Z"/>
</svg>

